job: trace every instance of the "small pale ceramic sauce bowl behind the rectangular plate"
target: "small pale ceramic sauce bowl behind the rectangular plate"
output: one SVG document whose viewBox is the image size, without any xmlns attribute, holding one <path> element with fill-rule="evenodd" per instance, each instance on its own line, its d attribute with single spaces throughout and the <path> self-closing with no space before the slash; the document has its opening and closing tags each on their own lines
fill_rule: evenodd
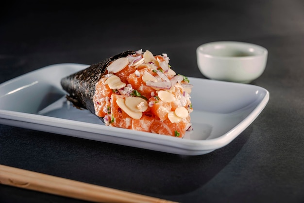
<svg viewBox="0 0 304 203">
<path fill-rule="evenodd" d="M 204 76 L 239 83 L 250 83 L 263 74 L 268 57 L 264 47 L 237 41 L 202 44 L 196 53 Z"/>
</svg>

